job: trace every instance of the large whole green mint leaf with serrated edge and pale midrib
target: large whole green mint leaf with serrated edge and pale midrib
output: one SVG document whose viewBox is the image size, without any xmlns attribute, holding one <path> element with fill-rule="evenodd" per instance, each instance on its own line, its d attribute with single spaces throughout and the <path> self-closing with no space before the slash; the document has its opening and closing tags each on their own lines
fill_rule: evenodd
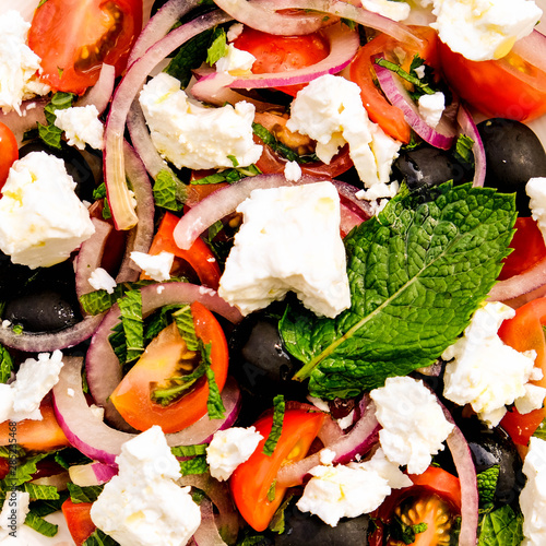
<svg viewBox="0 0 546 546">
<path fill-rule="evenodd" d="M 351 309 L 328 319 L 288 307 L 281 334 L 304 363 L 296 379 L 348 397 L 431 365 L 495 284 L 514 222 L 513 195 L 492 189 L 401 192 L 345 238 Z"/>
</svg>

